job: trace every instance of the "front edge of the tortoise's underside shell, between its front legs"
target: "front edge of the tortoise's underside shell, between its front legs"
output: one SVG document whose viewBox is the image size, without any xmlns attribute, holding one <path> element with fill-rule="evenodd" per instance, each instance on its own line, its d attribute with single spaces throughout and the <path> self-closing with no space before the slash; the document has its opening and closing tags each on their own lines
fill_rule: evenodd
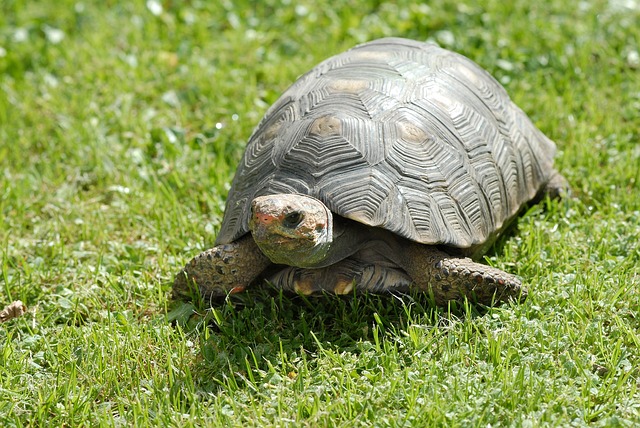
<svg viewBox="0 0 640 428">
<path fill-rule="evenodd" d="M 326 293 L 406 291 L 411 278 L 391 267 L 367 263 L 352 258 L 319 269 L 285 267 L 268 278 L 269 282 L 286 291 L 304 295 Z"/>
</svg>

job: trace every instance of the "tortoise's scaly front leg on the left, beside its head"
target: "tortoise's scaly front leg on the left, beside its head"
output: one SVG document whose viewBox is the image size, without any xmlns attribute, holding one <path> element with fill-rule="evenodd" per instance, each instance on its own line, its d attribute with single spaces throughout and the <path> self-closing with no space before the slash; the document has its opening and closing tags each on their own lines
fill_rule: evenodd
<svg viewBox="0 0 640 428">
<path fill-rule="evenodd" d="M 271 261 L 260 251 L 251 234 L 230 244 L 210 248 L 185 265 L 173 282 L 175 298 L 190 296 L 195 283 L 203 299 L 243 291 Z"/>
</svg>

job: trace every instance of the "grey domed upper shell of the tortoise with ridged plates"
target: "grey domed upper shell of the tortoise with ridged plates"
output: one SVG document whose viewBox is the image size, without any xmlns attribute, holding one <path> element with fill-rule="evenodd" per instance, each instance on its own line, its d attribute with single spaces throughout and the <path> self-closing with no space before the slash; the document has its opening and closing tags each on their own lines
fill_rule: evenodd
<svg viewBox="0 0 640 428">
<path fill-rule="evenodd" d="M 299 193 L 424 244 L 481 245 L 547 183 L 555 144 L 471 60 L 399 38 L 300 77 L 253 132 L 216 245 L 251 201 Z"/>
</svg>

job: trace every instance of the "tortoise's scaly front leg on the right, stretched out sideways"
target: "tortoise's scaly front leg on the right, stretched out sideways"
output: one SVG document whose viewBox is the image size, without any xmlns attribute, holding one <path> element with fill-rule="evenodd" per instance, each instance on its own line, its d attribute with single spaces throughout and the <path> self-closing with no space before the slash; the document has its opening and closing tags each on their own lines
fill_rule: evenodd
<svg viewBox="0 0 640 428">
<path fill-rule="evenodd" d="M 463 300 L 484 305 L 523 301 L 527 296 L 515 276 L 469 258 L 452 257 L 435 247 L 407 243 L 401 265 L 415 285 L 432 291 L 438 305 Z"/>
</svg>

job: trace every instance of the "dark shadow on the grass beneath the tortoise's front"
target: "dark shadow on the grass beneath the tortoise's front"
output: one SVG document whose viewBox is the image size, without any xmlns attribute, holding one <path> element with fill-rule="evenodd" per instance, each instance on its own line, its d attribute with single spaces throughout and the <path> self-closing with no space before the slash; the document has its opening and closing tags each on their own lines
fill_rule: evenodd
<svg viewBox="0 0 640 428">
<path fill-rule="evenodd" d="M 317 355 L 326 350 L 359 355 L 411 325 L 437 327 L 446 334 L 452 322 L 486 313 L 456 303 L 437 307 L 419 292 L 308 297 L 265 287 L 211 303 L 200 302 L 202 309 L 196 309 L 176 302 L 169 314 L 200 343 L 202 358 L 192 370 L 196 387 L 206 392 L 243 388 L 272 372 L 286 375 L 301 361 L 313 369 Z"/>
</svg>

